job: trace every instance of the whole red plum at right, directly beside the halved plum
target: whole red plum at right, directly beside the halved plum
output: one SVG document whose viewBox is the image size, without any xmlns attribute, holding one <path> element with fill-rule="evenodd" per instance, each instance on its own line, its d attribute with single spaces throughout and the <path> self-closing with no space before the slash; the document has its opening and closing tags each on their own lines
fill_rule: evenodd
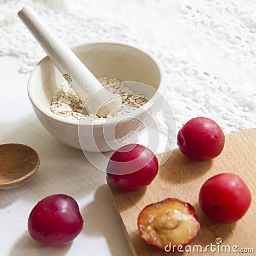
<svg viewBox="0 0 256 256">
<path fill-rule="evenodd" d="M 243 217 L 252 196 L 243 179 L 234 173 L 221 173 L 208 179 L 200 189 L 199 204 L 211 220 L 232 223 Z"/>
</svg>

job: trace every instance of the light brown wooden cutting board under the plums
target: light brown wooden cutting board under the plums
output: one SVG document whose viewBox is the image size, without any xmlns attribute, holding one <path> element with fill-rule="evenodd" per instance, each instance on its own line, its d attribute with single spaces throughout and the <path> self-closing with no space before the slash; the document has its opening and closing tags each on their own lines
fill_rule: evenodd
<svg viewBox="0 0 256 256">
<path fill-rule="evenodd" d="M 250 208 L 241 220 L 232 224 L 214 223 L 202 213 L 198 204 L 198 194 L 205 180 L 223 172 L 236 173 L 242 177 L 252 193 Z M 211 243 L 216 245 L 215 240 L 220 237 L 220 246 L 228 245 L 230 250 L 233 245 L 238 246 L 237 250 L 253 248 L 256 253 L 256 129 L 228 134 L 223 152 L 211 161 L 191 161 L 184 157 L 179 149 L 173 150 L 168 161 L 159 167 L 156 179 L 146 189 L 124 192 L 109 182 L 108 188 L 134 256 L 204 255 L 198 252 L 167 253 L 152 248 L 141 239 L 137 228 L 138 214 L 146 205 L 168 197 L 179 198 L 195 207 L 201 230 L 191 246 L 201 245 L 205 248 Z M 238 253 L 214 253 L 208 248 L 205 255 L 235 254 Z"/>
</svg>

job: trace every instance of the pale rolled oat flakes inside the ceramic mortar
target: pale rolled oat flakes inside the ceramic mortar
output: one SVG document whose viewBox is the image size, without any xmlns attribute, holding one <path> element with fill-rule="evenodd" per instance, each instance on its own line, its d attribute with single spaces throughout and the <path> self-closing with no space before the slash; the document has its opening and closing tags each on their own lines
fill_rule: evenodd
<svg viewBox="0 0 256 256">
<path fill-rule="evenodd" d="M 120 80 L 116 77 L 99 77 L 97 79 L 103 86 L 106 86 L 109 92 L 122 94 L 122 108 L 118 113 L 116 113 L 116 115 L 109 115 L 107 118 L 113 118 L 115 116 L 131 113 L 147 102 L 147 99 L 145 99 L 141 93 L 134 93 L 128 86 L 120 82 Z M 57 89 L 52 95 L 51 111 L 58 116 L 63 116 L 73 120 L 80 120 L 81 118 L 84 120 L 106 119 L 97 115 L 84 115 L 84 113 L 82 113 L 83 108 L 83 102 L 79 99 L 76 92 L 66 81 L 63 81 L 60 89 Z"/>
</svg>

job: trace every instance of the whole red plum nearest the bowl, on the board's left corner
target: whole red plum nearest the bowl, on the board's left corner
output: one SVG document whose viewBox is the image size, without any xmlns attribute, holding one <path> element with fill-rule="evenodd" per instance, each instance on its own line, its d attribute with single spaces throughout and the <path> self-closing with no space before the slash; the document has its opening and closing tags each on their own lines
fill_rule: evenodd
<svg viewBox="0 0 256 256">
<path fill-rule="evenodd" d="M 107 173 L 111 184 L 125 191 L 148 186 L 157 175 L 158 161 L 154 153 L 139 144 L 119 148 L 110 157 Z"/>
</svg>

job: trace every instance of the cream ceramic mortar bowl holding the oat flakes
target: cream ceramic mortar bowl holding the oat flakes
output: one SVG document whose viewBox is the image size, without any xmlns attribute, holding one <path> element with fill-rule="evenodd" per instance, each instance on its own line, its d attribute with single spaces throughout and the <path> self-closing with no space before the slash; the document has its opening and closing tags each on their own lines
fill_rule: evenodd
<svg viewBox="0 0 256 256">
<path fill-rule="evenodd" d="M 157 94 L 164 91 L 166 72 L 161 62 L 148 52 L 120 42 L 81 44 L 72 47 L 72 51 L 94 76 L 118 77 L 120 81 L 148 84 L 149 87 L 144 86 L 141 93 L 154 104 L 161 105 L 159 102 L 161 97 L 157 97 Z M 124 140 L 129 132 L 143 129 L 141 123 L 147 125 L 147 113 L 152 113 L 151 102 L 130 113 L 127 118 L 118 122 L 118 125 L 116 125 L 116 118 L 108 122 L 86 120 L 79 124 L 77 120 L 55 115 L 50 109 L 52 94 L 60 88 L 61 82 L 63 77 L 60 72 L 51 63 L 49 57 L 45 57 L 29 76 L 28 95 L 38 120 L 47 131 L 63 143 L 85 151 L 109 151 L 120 147 L 120 141 Z M 131 89 L 140 92 L 140 88 L 136 88 L 136 84 L 134 86 Z M 157 90 L 157 93 L 152 93 L 150 88 Z M 80 140 L 83 134 L 82 143 L 79 142 L 79 134 Z M 115 138 L 106 134 L 113 134 Z"/>
</svg>

